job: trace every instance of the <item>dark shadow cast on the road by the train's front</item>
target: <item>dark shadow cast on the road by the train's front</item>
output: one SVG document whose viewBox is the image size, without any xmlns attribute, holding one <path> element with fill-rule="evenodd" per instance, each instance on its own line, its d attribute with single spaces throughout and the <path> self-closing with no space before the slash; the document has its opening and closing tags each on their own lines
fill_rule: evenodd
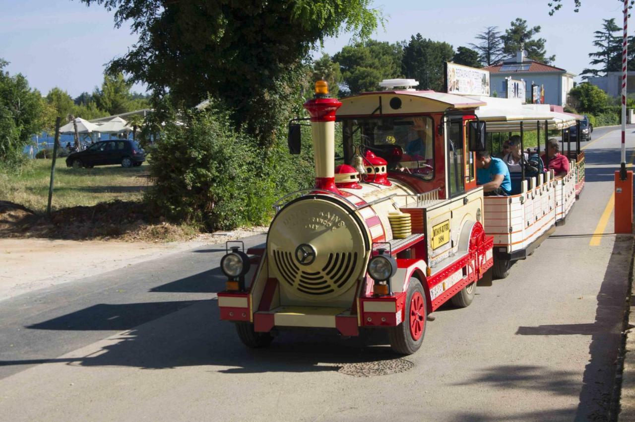
<svg viewBox="0 0 635 422">
<path fill-rule="evenodd" d="M 164 316 L 143 323 L 157 313 Z M 130 330 L 105 340 L 102 348 L 83 357 L 4 360 L 0 365 L 208 366 L 211 371 L 229 374 L 337 371 L 342 364 L 398 357 L 387 346 L 386 333 L 380 331 L 351 339 L 342 339 L 331 330 L 284 331 L 269 348 L 251 350 L 239 341 L 232 323 L 219 320 L 215 300 L 97 305 L 29 328 Z"/>
</svg>

